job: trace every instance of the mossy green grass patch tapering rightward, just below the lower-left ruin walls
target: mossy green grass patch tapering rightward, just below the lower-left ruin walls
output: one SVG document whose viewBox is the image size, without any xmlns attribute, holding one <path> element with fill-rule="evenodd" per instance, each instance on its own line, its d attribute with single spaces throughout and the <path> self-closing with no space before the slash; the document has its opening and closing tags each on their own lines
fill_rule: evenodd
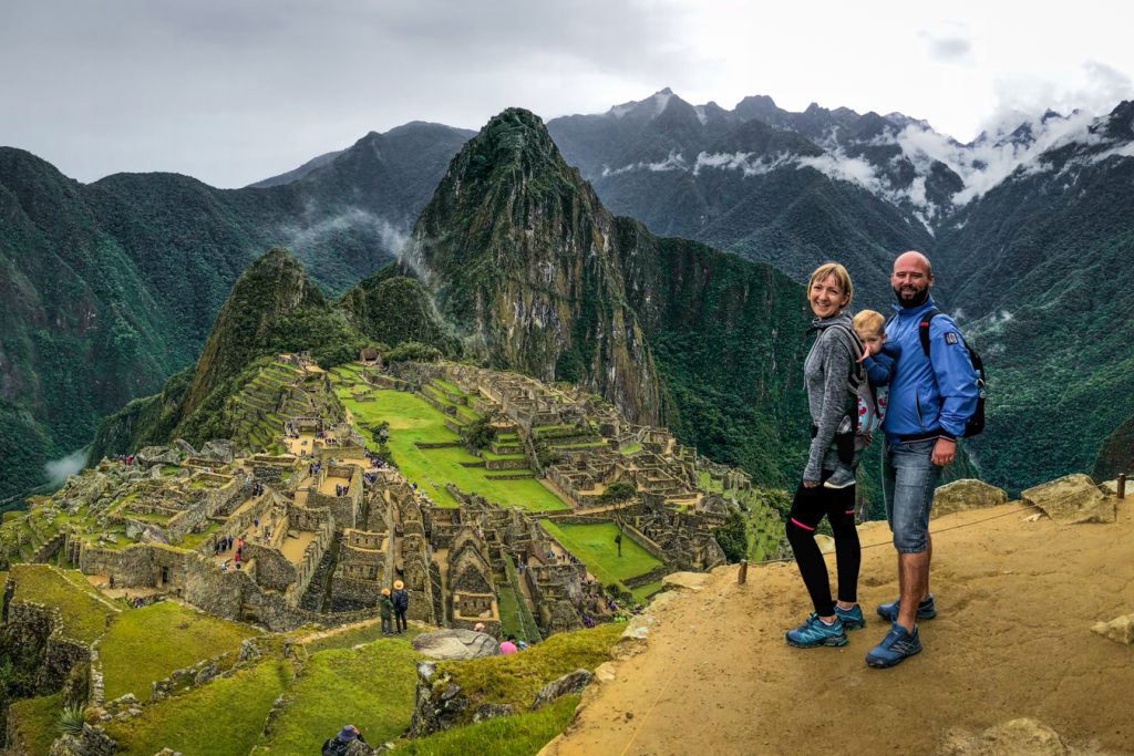
<svg viewBox="0 0 1134 756">
<path fill-rule="evenodd" d="M 240 642 L 255 635 L 246 625 L 210 617 L 172 601 L 122 612 L 115 617 L 100 644 L 107 700 L 127 693 L 147 700 L 154 680 L 225 652 L 239 651 Z"/>
</svg>

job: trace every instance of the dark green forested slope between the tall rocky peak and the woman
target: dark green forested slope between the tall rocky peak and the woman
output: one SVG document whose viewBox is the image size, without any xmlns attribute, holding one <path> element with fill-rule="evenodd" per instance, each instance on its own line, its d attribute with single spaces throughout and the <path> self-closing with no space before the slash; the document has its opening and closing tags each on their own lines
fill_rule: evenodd
<svg viewBox="0 0 1134 756">
<path fill-rule="evenodd" d="M 810 347 L 803 291 L 764 263 L 619 218 L 627 299 L 653 349 L 667 423 L 683 443 L 758 481 L 803 464 Z"/>
</svg>

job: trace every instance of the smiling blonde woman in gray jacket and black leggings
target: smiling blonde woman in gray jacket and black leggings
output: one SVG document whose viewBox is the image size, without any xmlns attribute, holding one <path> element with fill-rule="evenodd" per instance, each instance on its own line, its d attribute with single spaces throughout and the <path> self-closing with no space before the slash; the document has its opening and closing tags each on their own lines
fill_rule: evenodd
<svg viewBox="0 0 1134 756">
<path fill-rule="evenodd" d="M 818 331 L 803 367 L 812 439 L 807 465 L 788 517 L 787 540 L 811 594 L 814 612 L 803 625 L 785 634 L 788 645 L 798 648 L 845 646 L 846 631 L 865 625 L 857 598 L 862 550 L 854 525 L 855 486 L 830 489 L 822 485 L 838 465 L 835 434 L 847 430 L 850 372 L 862 356 L 850 316 L 844 312 L 853 294 L 850 277 L 838 263 L 820 265 L 807 283 L 807 304 L 815 315 L 813 329 Z M 827 564 L 814 537 L 823 516 L 835 535 L 838 602 L 831 601 Z"/>
</svg>

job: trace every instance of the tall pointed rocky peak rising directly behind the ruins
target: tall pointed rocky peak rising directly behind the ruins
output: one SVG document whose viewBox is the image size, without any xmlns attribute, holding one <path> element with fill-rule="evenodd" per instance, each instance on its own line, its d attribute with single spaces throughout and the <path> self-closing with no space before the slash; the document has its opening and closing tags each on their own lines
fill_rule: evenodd
<svg viewBox="0 0 1134 756">
<path fill-rule="evenodd" d="M 540 119 L 510 109 L 450 163 L 408 260 L 491 365 L 583 383 L 655 423 L 658 373 L 616 244 L 613 218 Z"/>
</svg>

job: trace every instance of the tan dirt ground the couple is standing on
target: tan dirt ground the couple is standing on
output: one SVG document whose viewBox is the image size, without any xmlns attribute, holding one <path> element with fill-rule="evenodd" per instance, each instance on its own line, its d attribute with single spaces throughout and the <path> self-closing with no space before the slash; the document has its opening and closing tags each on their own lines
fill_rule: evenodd
<svg viewBox="0 0 1134 756">
<path fill-rule="evenodd" d="M 933 520 L 938 618 L 924 651 L 891 670 L 863 656 L 897 595 L 885 524 L 863 527 L 863 630 L 843 648 L 796 649 L 810 611 L 794 563 L 718 569 L 654 611 L 646 649 L 592 686 L 541 751 L 603 754 L 936 753 L 951 736 L 1033 717 L 1089 750 L 1134 753 L 1134 647 L 1091 631 L 1134 612 L 1134 500 L 1115 525 L 1058 526 L 1018 503 Z M 991 519 L 990 519 L 991 518 Z M 833 581 L 833 555 L 828 557 Z"/>
</svg>

